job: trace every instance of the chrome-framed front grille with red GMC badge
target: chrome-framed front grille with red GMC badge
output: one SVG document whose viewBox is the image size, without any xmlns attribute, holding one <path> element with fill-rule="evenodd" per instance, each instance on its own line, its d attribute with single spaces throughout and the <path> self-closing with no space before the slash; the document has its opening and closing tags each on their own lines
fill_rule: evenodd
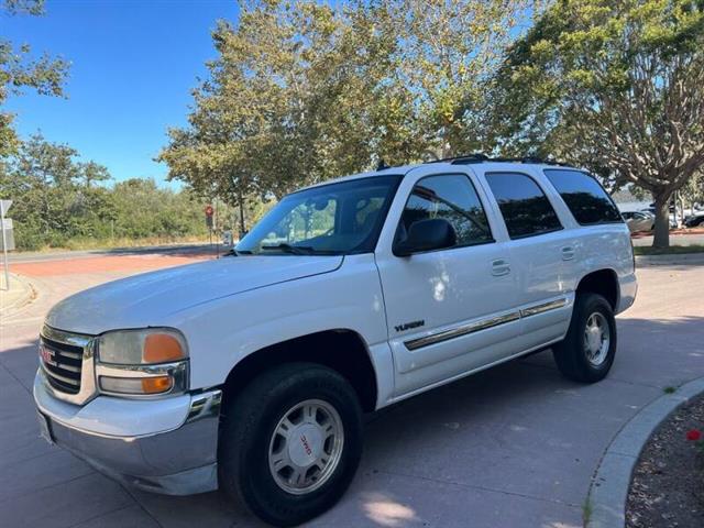
<svg viewBox="0 0 704 528">
<path fill-rule="evenodd" d="M 82 405 L 96 394 L 92 337 L 44 326 L 40 365 L 55 397 Z"/>
</svg>

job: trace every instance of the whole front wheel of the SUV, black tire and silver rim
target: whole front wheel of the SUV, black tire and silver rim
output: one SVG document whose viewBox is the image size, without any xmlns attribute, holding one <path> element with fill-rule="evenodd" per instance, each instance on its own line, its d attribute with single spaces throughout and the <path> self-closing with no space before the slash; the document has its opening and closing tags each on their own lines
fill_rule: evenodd
<svg viewBox="0 0 704 528">
<path fill-rule="evenodd" d="M 320 365 L 274 367 L 226 403 L 218 451 L 226 495 L 272 525 L 304 522 L 330 508 L 354 476 L 362 453 L 356 394 Z"/>
</svg>

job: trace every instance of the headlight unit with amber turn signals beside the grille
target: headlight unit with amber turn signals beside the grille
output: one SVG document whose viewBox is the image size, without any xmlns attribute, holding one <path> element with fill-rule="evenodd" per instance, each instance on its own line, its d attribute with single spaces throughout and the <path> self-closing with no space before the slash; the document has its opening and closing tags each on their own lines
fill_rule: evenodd
<svg viewBox="0 0 704 528">
<path fill-rule="evenodd" d="M 176 330 L 119 330 L 98 338 L 96 375 L 103 394 L 163 396 L 188 389 L 188 349 Z"/>
</svg>

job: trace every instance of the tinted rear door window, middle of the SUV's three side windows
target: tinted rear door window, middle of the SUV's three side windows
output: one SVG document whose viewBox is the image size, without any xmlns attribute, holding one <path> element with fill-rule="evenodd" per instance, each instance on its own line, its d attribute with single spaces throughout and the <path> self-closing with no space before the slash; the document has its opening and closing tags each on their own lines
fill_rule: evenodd
<svg viewBox="0 0 704 528">
<path fill-rule="evenodd" d="M 558 215 L 538 184 L 518 173 L 486 175 L 512 239 L 562 229 Z"/>
</svg>

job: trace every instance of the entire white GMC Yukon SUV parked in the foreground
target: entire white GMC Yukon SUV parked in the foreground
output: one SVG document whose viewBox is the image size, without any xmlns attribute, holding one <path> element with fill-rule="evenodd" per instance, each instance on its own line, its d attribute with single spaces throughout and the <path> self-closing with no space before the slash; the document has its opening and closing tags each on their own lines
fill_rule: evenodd
<svg viewBox="0 0 704 528">
<path fill-rule="evenodd" d="M 602 380 L 636 289 L 628 228 L 583 170 L 387 167 L 287 196 L 232 256 L 59 302 L 34 397 L 45 437 L 103 473 L 220 487 L 289 526 L 350 484 L 365 411 L 546 348 Z"/>
</svg>

